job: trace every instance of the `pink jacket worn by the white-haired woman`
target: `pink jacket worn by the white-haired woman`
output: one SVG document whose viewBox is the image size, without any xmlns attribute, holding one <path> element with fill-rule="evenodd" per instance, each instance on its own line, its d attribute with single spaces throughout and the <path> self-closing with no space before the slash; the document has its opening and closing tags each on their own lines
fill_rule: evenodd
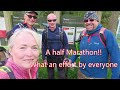
<svg viewBox="0 0 120 90">
<path fill-rule="evenodd" d="M 12 70 L 16 79 L 30 79 L 28 70 L 17 66 L 11 58 L 7 60 L 7 63 L 5 64 L 5 66 L 8 66 Z M 37 78 L 37 71 L 38 71 L 37 66 L 31 67 L 30 72 L 31 72 L 32 79 Z M 6 72 L 0 71 L 0 79 L 10 79 L 10 77 Z"/>
</svg>

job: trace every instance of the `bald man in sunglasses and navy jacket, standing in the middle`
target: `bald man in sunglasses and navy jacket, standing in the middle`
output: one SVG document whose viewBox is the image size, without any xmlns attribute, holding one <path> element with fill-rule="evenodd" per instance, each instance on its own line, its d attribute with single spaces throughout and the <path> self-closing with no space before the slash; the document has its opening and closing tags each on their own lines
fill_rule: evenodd
<svg viewBox="0 0 120 90">
<path fill-rule="evenodd" d="M 47 16 L 48 28 L 42 34 L 42 59 L 47 63 L 49 79 L 54 79 L 55 67 L 57 67 L 59 79 L 65 79 L 65 67 L 60 66 L 60 63 L 68 58 L 65 53 L 68 49 L 68 39 L 56 20 L 57 17 L 53 13 Z M 64 53 L 59 53 L 61 51 Z"/>
</svg>

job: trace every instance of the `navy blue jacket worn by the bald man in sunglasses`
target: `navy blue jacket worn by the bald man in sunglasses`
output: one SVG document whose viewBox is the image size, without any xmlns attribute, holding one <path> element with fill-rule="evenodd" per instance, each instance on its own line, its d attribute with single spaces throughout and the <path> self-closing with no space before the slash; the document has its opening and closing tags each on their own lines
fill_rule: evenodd
<svg viewBox="0 0 120 90">
<path fill-rule="evenodd" d="M 68 49 L 68 39 L 66 36 L 66 33 L 63 31 L 63 37 L 60 36 L 59 33 L 59 27 L 57 26 L 55 31 L 51 31 L 48 28 L 48 32 L 47 34 L 45 34 L 46 30 L 43 31 L 42 33 L 42 58 L 43 60 L 45 60 L 47 57 L 61 57 L 61 56 L 66 56 L 68 57 L 68 55 L 65 53 L 66 50 Z M 47 38 L 46 38 L 47 35 Z M 62 38 L 62 39 L 60 39 Z M 54 51 L 60 51 L 62 49 L 64 49 L 64 54 L 60 54 L 60 55 L 55 55 L 52 54 L 52 50 L 54 49 Z M 49 50 L 50 54 L 46 54 L 46 51 Z"/>
</svg>

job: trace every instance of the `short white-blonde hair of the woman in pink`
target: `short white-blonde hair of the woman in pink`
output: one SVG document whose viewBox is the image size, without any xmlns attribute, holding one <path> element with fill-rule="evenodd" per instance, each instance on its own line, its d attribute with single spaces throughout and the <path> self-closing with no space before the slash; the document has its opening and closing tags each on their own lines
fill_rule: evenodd
<svg viewBox="0 0 120 90">
<path fill-rule="evenodd" d="M 20 33 L 29 33 L 29 34 L 31 34 L 34 37 L 34 39 L 36 40 L 36 43 L 39 46 L 39 48 L 41 48 L 41 41 L 40 41 L 40 37 L 39 37 L 37 32 L 35 32 L 35 31 L 31 30 L 31 29 L 28 29 L 28 28 L 18 28 L 18 29 L 15 30 L 14 34 L 10 37 L 10 39 L 8 41 L 9 50 L 15 44 L 14 41 L 15 41 L 16 37 L 21 35 Z"/>
</svg>

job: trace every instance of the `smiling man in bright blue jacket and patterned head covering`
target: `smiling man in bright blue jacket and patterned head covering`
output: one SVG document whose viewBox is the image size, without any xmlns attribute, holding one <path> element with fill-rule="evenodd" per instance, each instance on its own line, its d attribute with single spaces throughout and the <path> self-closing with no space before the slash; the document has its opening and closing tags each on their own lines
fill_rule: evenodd
<svg viewBox="0 0 120 90">
<path fill-rule="evenodd" d="M 78 79 L 105 79 L 108 68 L 111 68 L 112 79 L 119 78 L 120 55 L 115 36 L 110 30 L 103 28 L 95 11 L 85 13 L 84 25 L 86 30 L 80 35 L 82 37 L 79 47 L 81 51 L 90 52 L 85 52 L 85 55 L 80 56 L 80 63 L 86 63 L 86 67 L 84 69 L 79 67 Z M 97 50 L 101 50 L 101 54 L 91 54 Z M 75 62 L 77 57 L 78 55 L 71 56 L 71 62 Z M 105 68 L 99 66 L 99 63 L 106 65 Z M 110 67 L 108 63 L 116 64 L 116 66 Z"/>
</svg>

